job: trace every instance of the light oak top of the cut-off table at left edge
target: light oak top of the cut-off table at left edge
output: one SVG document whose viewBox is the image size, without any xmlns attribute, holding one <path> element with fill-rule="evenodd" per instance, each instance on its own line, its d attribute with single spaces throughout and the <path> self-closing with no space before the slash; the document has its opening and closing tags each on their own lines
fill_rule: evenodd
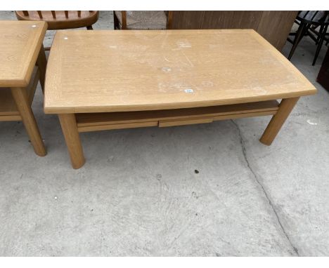
<svg viewBox="0 0 329 268">
<path fill-rule="evenodd" d="M 29 84 L 46 29 L 46 22 L 0 21 L 0 90 Z"/>
</svg>

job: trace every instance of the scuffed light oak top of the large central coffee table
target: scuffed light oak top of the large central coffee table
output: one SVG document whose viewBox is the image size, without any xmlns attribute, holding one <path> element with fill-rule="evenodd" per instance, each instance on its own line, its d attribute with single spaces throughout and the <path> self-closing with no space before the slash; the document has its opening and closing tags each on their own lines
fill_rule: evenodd
<svg viewBox="0 0 329 268">
<path fill-rule="evenodd" d="M 252 29 L 58 31 L 46 113 L 228 105 L 316 93 Z"/>
</svg>

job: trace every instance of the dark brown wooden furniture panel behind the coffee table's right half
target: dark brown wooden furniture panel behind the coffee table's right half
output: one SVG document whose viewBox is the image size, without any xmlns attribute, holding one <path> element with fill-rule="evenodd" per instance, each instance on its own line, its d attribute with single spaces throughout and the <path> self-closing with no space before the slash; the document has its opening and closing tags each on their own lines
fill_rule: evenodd
<svg viewBox="0 0 329 268">
<path fill-rule="evenodd" d="M 171 29 L 254 29 L 281 51 L 297 11 L 172 11 Z"/>
</svg>

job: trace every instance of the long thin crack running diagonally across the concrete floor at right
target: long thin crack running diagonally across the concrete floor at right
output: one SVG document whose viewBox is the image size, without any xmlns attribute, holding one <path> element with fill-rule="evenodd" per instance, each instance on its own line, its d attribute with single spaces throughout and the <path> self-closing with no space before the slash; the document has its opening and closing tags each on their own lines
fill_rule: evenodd
<svg viewBox="0 0 329 268">
<path fill-rule="evenodd" d="M 285 228 L 283 227 L 282 223 L 281 223 L 281 220 L 280 220 L 280 217 L 278 216 L 278 213 L 276 212 L 276 209 L 274 208 L 273 206 L 273 203 L 271 201 L 271 199 L 269 198 L 269 194 L 267 194 L 266 190 L 264 189 L 264 186 L 262 185 L 262 183 L 259 181 L 259 177 L 258 175 L 254 172 L 254 170 L 252 169 L 252 167 L 250 166 L 250 162 L 247 158 L 247 150 L 245 149 L 245 140 L 243 140 L 243 136 L 241 135 L 241 131 L 240 131 L 240 128 L 238 126 L 238 124 L 231 120 L 232 123 L 236 126 L 237 130 L 238 130 L 238 135 L 239 135 L 239 138 L 240 138 L 240 145 L 242 147 L 242 151 L 243 151 L 243 157 L 245 159 L 245 162 L 247 163 L 247 168 L 249 168 L 249 170 L 251 171 L 252 175 L 254 175 L 254 180 L 256 180 L 257 184 L 259 185 L 259 187 L 262 188 L 263 192 L 264 192 L 264 195 L 266 196 L 266 199 L 267 201 L 269 201 L 269 205 L 271 206 L 274 214 L 276 215 L 276 219 L 278 220 L 278 224 L 280 225 L 281 229 L 282 229 L 282 232 L 283 234 L 285 235 L 285 237 L 288 239 L 289 243 L 290 243 L 290 246 L 292 247 L 292 249 L 294 250 L 294 252 L 296 253 L 297 256 L 299 256 L 299 253 L 298 253 L 298 249 L 292 244 L 287 232 L 285 232 Z"/>
</svg>

